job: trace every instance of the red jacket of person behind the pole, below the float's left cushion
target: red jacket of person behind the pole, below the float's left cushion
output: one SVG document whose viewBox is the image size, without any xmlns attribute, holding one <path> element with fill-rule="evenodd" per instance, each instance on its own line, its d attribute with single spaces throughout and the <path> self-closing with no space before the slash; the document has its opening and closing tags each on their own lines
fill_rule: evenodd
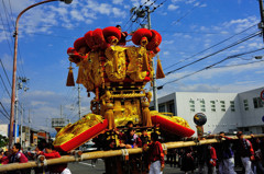
<svg viewBox="0 0 264 174">
<path fill-rule="evenodd" d="M 61 154 L 57 151 L 52 151 L 51 153 L 43 153 L 46 159 L 57 159 Z M 52 173 L 62 173 L 67 167 L 67 164 L 56 164 L 48 165 L 47 170 Z"/>
</svg>

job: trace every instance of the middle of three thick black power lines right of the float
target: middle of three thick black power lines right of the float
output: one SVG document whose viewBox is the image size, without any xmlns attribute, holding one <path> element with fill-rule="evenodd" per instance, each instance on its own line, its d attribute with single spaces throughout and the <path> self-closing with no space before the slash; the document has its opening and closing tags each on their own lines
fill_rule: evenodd
<svg viewBox="0 0 264 174">
<path fill-rule="evenodd" d="M 195 61 L 193 61 L 193 62 L 190 62 L 190 63 L 187 63 L 187 65 L 185 65 L 185 66 L 183 66 L 183 67 L 179 67 L 179 68 L 177 68 L 177 69 L 175 69 L 175 70 L 168 71 L 168 72 L 166 73 L 166 76 L 169 74 L 169 73 L 173 73 L 173 72 L 175 72 L 175 71 L 178 71 L 178 70 L 180 70 L 180 69 L 184 69 L 184 68 L 186 68 L 186 67 L 189 67 L 189 66 L 191 66 L 191 65 L 194 65 L 194 63 L 196 63 L 196 62 L 199 62 L 199 61 L 201 61 L 201 60 L 204 60 L 204 59 L 207 59 L 207 58 L 209 58 L 209 57 L 211 57 L 211 56 L 213 56 L 213 55 L 217 55 L 217 54 L 219 54 L 219 53 L 221 53 L 221 51 L 223 51 L 223 50 L 226 50 L 226 49 L 229 49 L 229 48 L 231 48 L 231 47 L 234 47 L 234 46 L 237 46 L 237 45 L 239 45 L 239 44 L 241 44 L 241 43 L 243 43 L 243 42 L 245 42 L 245 40 L 248 40 L 248 39 L 251 39 L 251 38 L 260 35 L 261 33 L 262 33 L 262 32 L 256 32 L 256 33 L 254 33 L 254 34 L 251 34 L 251 35 L 249 35 L 249 36 L 246 36 L 246 37 L 244 37 L 244 38 L 242 38 L 242 39 L 240 39 L 240 40 L 238 40 L 238 42 L 235 42 L 235 43 L 233 43 L 233 44 L 231 44 L 231 45 L 229 45 L 229 46 L 227 46 L 227 47 L 224 47 L 224 48 L 222 48 L 222 49 L 220 49 L 220 50 L 218 50 L 218 51 L 215 51 L 215 53 L 212 53 L 212 54 L 210 54 L 210 55 L 208 55 L 208 56 L 205 56 L 205 57 L 202 57 L 202 58 L 200 58 L 200 59 L 198 59 L 198 60 L 195 60 Z"/>
</svg>

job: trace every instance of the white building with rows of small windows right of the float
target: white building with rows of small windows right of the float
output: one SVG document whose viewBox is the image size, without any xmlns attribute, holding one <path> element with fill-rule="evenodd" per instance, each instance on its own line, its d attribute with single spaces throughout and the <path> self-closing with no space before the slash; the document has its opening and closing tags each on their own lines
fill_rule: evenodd
<svg viewBox="0 0 264 174">
<path fill-rule="evenodd" d="M 262 90 L 263 88 L 243 93 L 175 92 L 158 98 L 158 112 L 185 118 L 194 130 L 195 114 L 204 113 L 207 116 L 204 130 L 209 134 L 237 130 L 263 134 Z M 153 109 L 153 103 L 150 108 Z"/>
</svg>

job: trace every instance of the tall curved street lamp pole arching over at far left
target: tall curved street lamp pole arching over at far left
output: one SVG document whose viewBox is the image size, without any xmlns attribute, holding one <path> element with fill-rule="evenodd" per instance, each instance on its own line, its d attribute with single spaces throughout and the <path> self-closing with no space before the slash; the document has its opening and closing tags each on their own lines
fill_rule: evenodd
<svg viewBox="0 0 264 174">
<path fill-rule="evenodd" d="M 21 15 L 30 10 L 31 8 L 34 8 L 42 3 L 53 2 L 53 1 L 63 1 L 66 4 L 72 3 L 73 0 L 45 0 L 42 2 L 34 3 L 26 9 L 24 9 L 22 12 L 19 13 L 16 21 L 15 21 L 15 31 L 13 34 L 14 37 L 14 55 L 13 55 L 13 77 L 12 77 L 12 96 L 11 96 L 11 112 L 10 112 L 10 127 L 9 127 L 9 149 L 12 148 L 13 143 L 13 123 L 14 123 L 14 102 L 15 102 L 15 79 L 16 79 L 16 56 L 18 56 L 18 35 L 19 35 L 19 20 Z"/>
</svg>

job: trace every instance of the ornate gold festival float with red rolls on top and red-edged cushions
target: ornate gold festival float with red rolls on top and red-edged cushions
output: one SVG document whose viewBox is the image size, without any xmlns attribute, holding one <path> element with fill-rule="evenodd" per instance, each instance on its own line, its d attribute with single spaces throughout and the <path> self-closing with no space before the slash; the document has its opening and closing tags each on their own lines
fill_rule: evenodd
<svg viewBox="0 0 264 174">
<path fill-rule="evenodd" d="M 76 39 L 74 47 L 67 49 L 70 67 L 66 85 L 75 85 L 72 67 L 75 63 L 78 67 L 76 83 L 87 89 L 88 97 L 90 93 L 95 97 L 90 102 L 91 114 L 57 132 L 54 141 L 57 150 L 68 152 L 94 138 L 102 141 L 105 148 L 118 148 L 114 130 L 123 130 L 128 121 L 133 121 L 139 130 L 146 128 L 148 134 L 194 135 L 184 118 L 148 108 L 152 93 L 144 88 L 148 82 L 152 85 L 153 59 L 160 51 L 161 34 L 140 28 L 132 34 L 134 45 L 130 46 L 125 46 L 122 37 L 121 31 L 114 26 L 96 28 Z M 164 77 L 157 59 L 156 79 Z"/>
</svg>

